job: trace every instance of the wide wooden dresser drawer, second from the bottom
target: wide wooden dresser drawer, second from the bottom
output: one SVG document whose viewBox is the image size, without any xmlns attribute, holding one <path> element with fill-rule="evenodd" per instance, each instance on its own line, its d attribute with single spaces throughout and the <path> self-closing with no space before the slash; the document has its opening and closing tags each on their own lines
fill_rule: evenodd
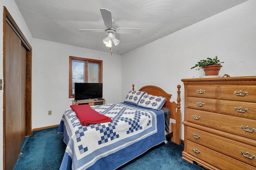
<svg viewBox="0 0 256 170">
<path fill-rule="evenodd" d="M 188 140 L 198 143 L 200 145 L 204 145 L 223 154 L 232 155 L 232 157 L 242 162 L 248 163 L 252 166 L 256 165 L 256 159 L 253 158 L 254 156 L 256 156 L 256 147 L 252 147 L 250 145 L 236 142 L 231 139 L 214 135 L 212 133 L 201 131 L 192 127 L 186 128 Z M 246 154 L 246 152 L 251 154 L 250 156 L 248 156 L 249 158 L 246 157 L 246 155 L 248 155 Z M 245 154 L 245 156 L 243 154 Z"/>
</svg>

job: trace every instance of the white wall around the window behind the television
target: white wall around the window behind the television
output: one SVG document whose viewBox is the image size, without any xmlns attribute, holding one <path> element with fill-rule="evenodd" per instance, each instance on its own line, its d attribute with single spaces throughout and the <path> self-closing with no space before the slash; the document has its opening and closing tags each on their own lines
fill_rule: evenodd
<svg viewBox="0 0 256 170">
<path fill-rule="evenodd" d="M 74 98 L 68 98 L 69 56 L 103 61 L 103 98 L 122 102 L 122 56 L 33 39 L 32 129 L 58 125 Z M 48 111 L 52 115 L 48 115 Z"/>
</svg>

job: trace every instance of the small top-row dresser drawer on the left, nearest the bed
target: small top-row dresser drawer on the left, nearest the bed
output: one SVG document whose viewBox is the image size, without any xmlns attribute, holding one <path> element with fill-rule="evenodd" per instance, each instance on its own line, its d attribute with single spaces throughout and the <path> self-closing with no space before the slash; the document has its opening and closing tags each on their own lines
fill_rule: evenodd
<svg viewBox="0 0 256 170">
<path fill-rule="evenodd" d="M 217 98 L 217 86 L 187 86 L 187 96 Z"/>
</svg>

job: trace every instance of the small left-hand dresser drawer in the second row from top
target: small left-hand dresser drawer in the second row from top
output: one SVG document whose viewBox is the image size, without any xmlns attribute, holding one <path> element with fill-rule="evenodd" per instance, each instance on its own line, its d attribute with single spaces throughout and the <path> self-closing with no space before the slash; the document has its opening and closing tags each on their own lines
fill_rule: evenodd
<svg viewBox="0 0 256 170">
<path fill-rule="evenodd" d="M 217 111 L 218 100 L 207 98 L 187 98 L 188 107 L 206 111 Z"/>
</svg>

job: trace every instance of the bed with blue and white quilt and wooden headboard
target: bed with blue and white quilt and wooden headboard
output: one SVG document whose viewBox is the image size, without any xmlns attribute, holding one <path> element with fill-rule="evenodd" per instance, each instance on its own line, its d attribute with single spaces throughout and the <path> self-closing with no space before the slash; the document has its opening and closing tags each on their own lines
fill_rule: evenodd
<svg viewBox="0 0 256 170">
<path fill-rule="evenodd" d="M 58 129 L 67 145 L 60 170 L 112 170 L 166 142 L 167 137 L 180 145 L 180 87 L 177 86 L 176 103 L 170 102 L 171 94 L 157 86 L 144 86 L 135 91 L 132 85 L 124 102 L 90 106 L 111 119 L 104 123 L 82 125 L 84 121 L 78 119 L 80 113 L 76 114 L 76 108 L 67 109 Z M 135 97 L 128 97 L 130 94 Z M 147 105 L 148 98 L 158 103 L 151 107 Z M 163 109 L 170 110 L 170 118 L 175 121 L 171 121 L 169 132 L 165 130 Z"/>
</svg>

